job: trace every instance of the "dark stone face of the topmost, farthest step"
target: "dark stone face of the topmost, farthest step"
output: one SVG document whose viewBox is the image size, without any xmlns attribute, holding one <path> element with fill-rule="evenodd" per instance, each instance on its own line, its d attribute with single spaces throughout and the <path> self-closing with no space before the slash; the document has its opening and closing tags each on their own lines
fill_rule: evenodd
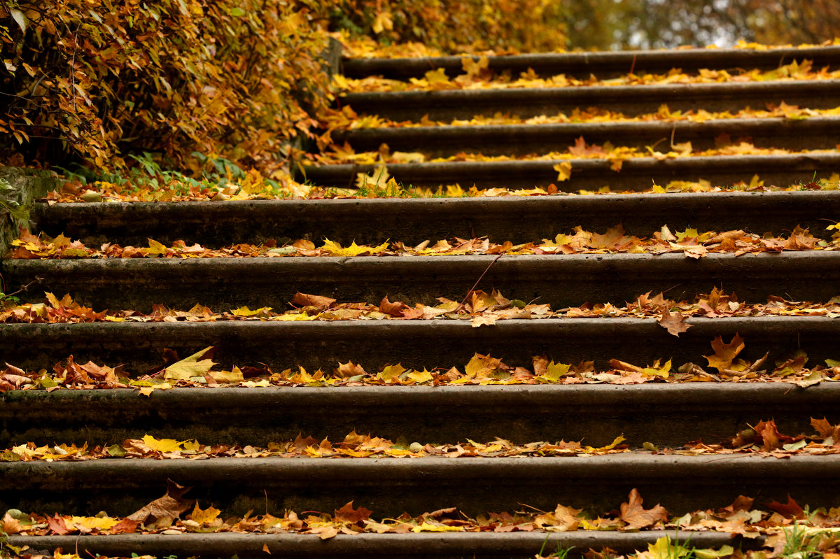
<svg viewBox="0 0 840 559">
<path fill-rule="evenodd" d="M 426 58 L 365 58 L 342 60 L 344 76 L 361 78 L 383 76 L 392 80 L 422 77 L 424 73 L 444 68 L 450 77 L 463 74 L 464 56 Z M 472 57 L 477 60 L 477 57 Z M 696 72 L 701 68 L 737 72 L 739 69 L 774 70 L 794 60 L 811 60 L 815 68 L 840 64 L 840 47 L 807 49 L 779 48 L 769 50 L 696 49 L 696 50 L 627 50 L 622 52 L 545 53 L 488 56 L 492 71 L 510 71 L 514 77 L 531 69 L 540 76 L 565 74 L 579 78 L 594 74 L 599 78 L 628 74 L 664 74 L 674 68 Z"/>
</svg>

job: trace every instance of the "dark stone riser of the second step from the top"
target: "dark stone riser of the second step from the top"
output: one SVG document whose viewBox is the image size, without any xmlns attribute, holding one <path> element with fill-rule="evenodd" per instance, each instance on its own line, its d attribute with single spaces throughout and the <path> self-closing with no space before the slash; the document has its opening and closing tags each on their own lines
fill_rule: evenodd
<svg viewBox="0 0 840 559">
<path fill-rule="evenodd" d="M 510 88 L 488 90 L 386 91 L 349 93 L 339 105 L 359 114 L 376 114 L 396 121 L 438 121 L 472 118 L 477 114 L 509 113 L 522 118 L 570 113 L 576 108 L 610 107 L 612 112 L 636 116 L 657 112 L 663 104 L 672 112 L 736 112 L 768 103 L 827 109 L 840 105 L 837 80 L 764 81 L 722 84 L 650 86 L 591 86 Z"/>
</svg>

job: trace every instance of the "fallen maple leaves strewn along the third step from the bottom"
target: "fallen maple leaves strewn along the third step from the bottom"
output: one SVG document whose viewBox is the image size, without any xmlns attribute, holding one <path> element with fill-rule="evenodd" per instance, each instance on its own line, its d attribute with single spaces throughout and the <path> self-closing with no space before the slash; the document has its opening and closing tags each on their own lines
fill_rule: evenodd
<svg viewBox="0 0 840 559">
<path fill-rule="evenodd" d="M 667 326 L 674 327 L 673 324 Z M 236 366 L 230 370 L 216 369 L 213 361 L 216 347 L 205 347 L 191 356 L 179 359 L 167 349 L 165 364 L 149 374 L 129 374 L 123 365 L 109 367 L 92 361 L 76 363 L 72 356 L 56 363 L 51 371 L 27 371 L 6 363 L 0 370 L 0 393 L 7 390 L 46 389 L 128 389 L 150 396 L 155 390 L 173 388 L 221 388 L 239 386 L 258 388 L 269 386 L 386 386 L 386 385 L 490 385 L 490 384 L 644 384 L 649 382 L 785 382 L 807 388 L 821 382 L 840 379 L 840 361 L 827 359 L 826 365 L 806 368 L 808 356 L 801 350 L 774 363 L 773 368 L 762 368 L 769 353 L 756 360 L 745 360 L 738 355 L 746 347 L 738 334 L 730 342 L 717 336 L 711 342 L 712 353 L 702 356 L 710 373 L 696 363 L 684 363 L 675 368 L 671 360 L 657 359 L 648 366 L 639 366 L 613 358 L 610 368 L 598 371 L 592 361 L 580 363 L 555 363 L 545 355 L 534 356 L 531 368 L 508 365 L 501 358 L 475 353 L 463 371 L 457 367 L 437 367 L 431 371 L 405 368 L 402 363 L 388 364 L 376 373 L 369 373 L 359 363 L 338 363 L 327 372 L 321 368 L 313 373 L 302 366 L 286 368 L 274 373 L 268 365 Z"/>
</svg>

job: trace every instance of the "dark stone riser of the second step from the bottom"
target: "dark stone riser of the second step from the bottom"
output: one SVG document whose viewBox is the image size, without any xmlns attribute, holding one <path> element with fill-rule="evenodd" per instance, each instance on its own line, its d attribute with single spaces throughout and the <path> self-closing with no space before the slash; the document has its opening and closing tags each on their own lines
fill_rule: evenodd
<svg viewBox="0 0 840 559">
<path fill-rule="evenodd" d="M 746 459 L 744 459 L 746 458 Z M 810 459 L 809 459 L 810 458 Z M 249 458 L 138 462 L 101 460 L 55 464 L 0 464 L 5 484 L 0 507 L 42 514 L 129 515 L 160 496 L 166 480 L 192 487 L 204 506 L 229 515 L 248 510 L 339 509 L 353 500 L 376 515 L 457 506 L 467 515 L 514 510 L 518 504 L 553 509 L 557 503 L 589 512 L 610 510 L 637 488 L 646 503 L 670 515 L 731 503 L 740 494 L 785 501 L 788 494 L 812 507 L 831 506 L 840 487 L 827 486 L 836 456 L 651 457 L 614 455 L 570 458 L 472 458 L 415 460 L 281 460 Z M 722 479 L 738 479 L 737 485 Z M 409 509 L 409 510 L 407 510 Z"/>
</svg>

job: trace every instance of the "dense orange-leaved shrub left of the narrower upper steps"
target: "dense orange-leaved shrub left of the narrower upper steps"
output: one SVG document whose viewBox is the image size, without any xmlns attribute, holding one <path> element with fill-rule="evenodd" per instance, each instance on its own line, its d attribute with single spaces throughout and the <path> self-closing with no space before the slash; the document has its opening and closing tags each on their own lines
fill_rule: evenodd
<svg viewBox="0 0 840 559">
<path fill-rule="evenodd" d="M 125 154 L 271 168 L 328 102 L 327 34 L 283 0 L 0 2 L 0 144 L 120 168 Z"/>
</svg>

